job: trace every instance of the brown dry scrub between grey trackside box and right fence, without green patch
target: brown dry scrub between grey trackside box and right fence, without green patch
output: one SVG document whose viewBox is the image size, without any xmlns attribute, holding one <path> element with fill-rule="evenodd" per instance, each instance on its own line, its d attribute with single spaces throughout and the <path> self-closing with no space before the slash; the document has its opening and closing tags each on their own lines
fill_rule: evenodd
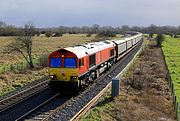
<svg viewBox="0 0 180 121">
<path fill-rule="evenodd" d="M 166 70 L 160 48 L 153 41 L 134 67 L 129 76 L 124 77 L 124 94 L 127 95 L 128 113 L 120 109 L 121 120 L 175 120 L 172 97 L 166 80 Z M 133 77 L 133 78 L 132 78 Z M 129 83 L 130 82 L 130 83 Z M 129 88 L 128 94 L 127 87 Z M 124 97 L 126 99 L 126 96 Z M 115 103 L 119 103 L 118 98 Z"/>
</svg>

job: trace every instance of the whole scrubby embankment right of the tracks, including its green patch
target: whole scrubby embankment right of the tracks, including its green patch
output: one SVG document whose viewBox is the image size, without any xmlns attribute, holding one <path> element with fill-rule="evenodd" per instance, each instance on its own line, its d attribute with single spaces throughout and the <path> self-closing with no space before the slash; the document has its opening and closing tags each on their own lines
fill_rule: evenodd
<svg viewBox="0 0 180 121">
<path fill-rule="evenodd" d="M 120 96 L 106 96 L 83 121 L 175 120 L 163 56 L 154 41 L 120 80 Z"/>
</svg>

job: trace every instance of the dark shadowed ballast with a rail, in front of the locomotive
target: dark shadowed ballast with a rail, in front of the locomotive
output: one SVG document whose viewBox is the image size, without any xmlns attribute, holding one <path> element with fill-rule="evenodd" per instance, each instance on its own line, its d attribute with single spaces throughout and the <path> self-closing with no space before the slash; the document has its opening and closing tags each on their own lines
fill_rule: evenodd
<svg viewBox="0 0 180 121">
<path fill-rule="evenodd" d="M 0 113 L 0 120 L 15 121 L 24 119 L 33 119 L 38 117 L 39 112 L 49 112 L 55 107 L 63 104 L 67 98 L 58 97 L 58 94 L 53 92 L 50 88 L 31 96 L 30 98 L 11 106 Z M 48 105 L 48 106 L 47 106 Z"/>
</svg>

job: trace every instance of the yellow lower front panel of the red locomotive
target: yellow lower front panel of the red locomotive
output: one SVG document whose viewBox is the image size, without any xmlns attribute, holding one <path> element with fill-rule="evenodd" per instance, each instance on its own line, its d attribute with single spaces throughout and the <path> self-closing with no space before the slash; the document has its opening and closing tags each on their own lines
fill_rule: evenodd
<svg viewBox="0 0 180 121">
<path fill-rule="evenodd" d="M 70 81 L 70 76 L 78 77 L 78 68 L 49 68 L 49 74 L 56 75 L 58 80 Z M 73 81 L 78 81 L 78 78 Z"/>
</svg>

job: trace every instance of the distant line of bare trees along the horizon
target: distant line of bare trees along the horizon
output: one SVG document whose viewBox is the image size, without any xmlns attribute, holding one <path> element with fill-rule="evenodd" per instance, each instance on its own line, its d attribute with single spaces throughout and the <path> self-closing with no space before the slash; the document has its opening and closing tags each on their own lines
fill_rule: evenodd
<svg viewBox="0 0 180 121">
<path fill-rule="evenodd" d="M 14 25 L 7 25 L 5 22 L 0 21 L 0 36 L 18 36 L 23 30 L 23 27 L 16 27 Z M 40 34 L 55 33 L 56 35 L 62 36 L 62 34 L 99 34 L 102 32 L 111 32 L 113 34 L 123 34 L 126 31 L 137 31 L 143 34 L 169 34 L 180 35 L 180 26 L 156 26 L 151 24 L 148 27 L 130 27 L 128 25 L 122 25 L 119 27 L 112 26 L 100 26 L 94 24 L 92 26 L 82 26 L 82 27 L 69 27 L 69 26 L 59 26 L 59 27 L 48 27 L 48 28 L 38 28 L 35 27 L 33 35 L 39 36 Z"/>
</svg>

